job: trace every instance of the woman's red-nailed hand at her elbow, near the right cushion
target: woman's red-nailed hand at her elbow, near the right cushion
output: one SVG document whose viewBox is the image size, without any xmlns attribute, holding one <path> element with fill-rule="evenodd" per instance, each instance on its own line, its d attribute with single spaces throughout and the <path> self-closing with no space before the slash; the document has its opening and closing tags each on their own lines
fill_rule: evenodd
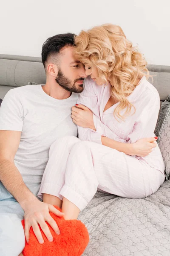
<svg viewBox="0 0 170 256">
<path fill-rule="evenodd" d="M 144 138 L 137 140 L 136 143 L 132 143 L 133 153 L 131 155 L 136 155 L 138 157 L 146 157 L 153 148 L 156 147 L 155 138 Z"/>
</svg>

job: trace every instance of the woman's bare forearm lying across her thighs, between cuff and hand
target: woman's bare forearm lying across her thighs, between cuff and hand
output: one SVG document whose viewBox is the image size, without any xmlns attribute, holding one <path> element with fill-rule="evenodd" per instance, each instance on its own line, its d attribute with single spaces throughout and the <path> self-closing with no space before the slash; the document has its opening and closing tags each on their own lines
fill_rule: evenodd
<svg viewBox="0 0 170 256">
<path fill-rule="evenodd" d="M 122 143 L 116 140 L 109 139 L 108 137 L 102 136 L 102 145 L 105 145 L 109 148 L 116 149 L 120 152 L 124 152 L 125 154 L 133 155 L 133 145 L 128 143 Z"/>
</svg>

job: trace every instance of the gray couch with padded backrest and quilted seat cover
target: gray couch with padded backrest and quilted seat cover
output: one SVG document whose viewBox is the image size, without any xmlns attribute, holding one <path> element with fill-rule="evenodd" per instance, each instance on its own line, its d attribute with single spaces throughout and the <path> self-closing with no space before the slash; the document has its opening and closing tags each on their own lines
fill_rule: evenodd
<svg viewBox="0 0 170 256">
<path fill-rule="evenodd" d="M 160 95 L 170 94 L 170 66 L 148 66 Z M 40 58 L 0 55 L 0 98 L 28 82 L 45 83 Z M 97 192 L 80 213 L 90 243 L 84 256 L 170 256 L 170 182 L 142 199 L 120 198 Z"/>
</svg>

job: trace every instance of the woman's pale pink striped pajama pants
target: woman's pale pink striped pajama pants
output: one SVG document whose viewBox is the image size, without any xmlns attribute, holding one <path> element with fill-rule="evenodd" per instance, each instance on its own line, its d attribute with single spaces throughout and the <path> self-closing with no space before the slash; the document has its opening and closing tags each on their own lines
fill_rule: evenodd
<svg viewBox="0 0 170 256">
<path fill-rule="evenodd" d="M 164 174 L 116 149 L 68 136 L 51 144 L 42 177 L 42 194 L 67 198 L 84 209 L 97 190 L 125 198 L 144 198 L 164 182 Z"/>
</svg>

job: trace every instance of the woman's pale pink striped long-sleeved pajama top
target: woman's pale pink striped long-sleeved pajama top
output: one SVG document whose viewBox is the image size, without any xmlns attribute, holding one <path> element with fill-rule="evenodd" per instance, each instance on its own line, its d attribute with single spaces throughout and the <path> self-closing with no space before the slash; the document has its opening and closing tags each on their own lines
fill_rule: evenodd
<svg viewBox="0 0 170 256">
<path fill-rule="evenodd" d="M 136 108 L 136 112 L 125 117 L 125 121 L 119 120 L 118 122 L 113 115 L 119 102 L 103 112 L 110 96 L 110 84 L 99 86 L 90 77 L 85 79 L 84 90 L 80 93 L 77 104 L 85 105 L 94 113 L 96 131 L 78 126 L 80 140 L 102 144 L 101 136 L 103 135 L 122 143 L 135 143 L 142 138 L 155 137 L 154 129 L 159 114 L 160 98 L 156 88 L 146 80 L 145 76 L 127 97 Z M 158 144 L 146 157 L 133 157 L 145 161 L 151 167 L 164 173 L 164 161 Z"/>
</svg>

